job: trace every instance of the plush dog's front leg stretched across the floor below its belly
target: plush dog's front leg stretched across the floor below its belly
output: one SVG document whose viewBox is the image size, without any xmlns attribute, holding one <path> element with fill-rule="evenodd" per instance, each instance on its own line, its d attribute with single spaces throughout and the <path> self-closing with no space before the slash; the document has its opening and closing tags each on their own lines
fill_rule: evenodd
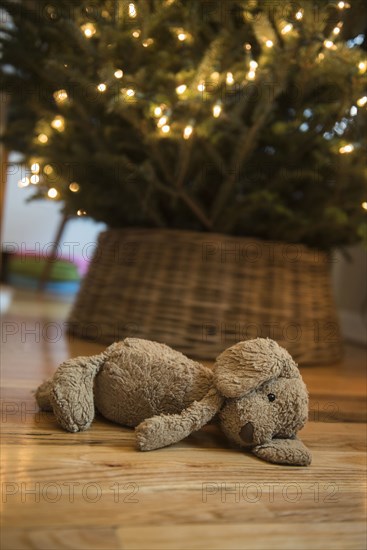
<svg viewBox="0 0 367 550">
<path fill-rule="evenodd" d="M 135 428 L 139 449 L 151 451 L 181 441 L 205 426 L 220 410 L 223 400 L 212 388 L 201 401 L 194 401 L 180 414 L 162 414 L 144 420 Z"/>
</svg>

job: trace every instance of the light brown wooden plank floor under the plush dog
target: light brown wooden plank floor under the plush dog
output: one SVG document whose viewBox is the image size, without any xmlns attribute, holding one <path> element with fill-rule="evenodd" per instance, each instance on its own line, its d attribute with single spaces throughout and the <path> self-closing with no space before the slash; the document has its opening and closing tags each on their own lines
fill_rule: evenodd
<svg viewBox="0 0 367 550">
<path fill-rule="evenodd" d="M 23 295 L 2 328 L 2 548 L 366 548 L 366 350 L 302 369 L 309 468 L 276 466 L 231 448 L 216 426 L 141 453 L 134 433 L 98 418 L 60 429 L 32 390 L 73 355 L 68 304 Z"/>
</svg>

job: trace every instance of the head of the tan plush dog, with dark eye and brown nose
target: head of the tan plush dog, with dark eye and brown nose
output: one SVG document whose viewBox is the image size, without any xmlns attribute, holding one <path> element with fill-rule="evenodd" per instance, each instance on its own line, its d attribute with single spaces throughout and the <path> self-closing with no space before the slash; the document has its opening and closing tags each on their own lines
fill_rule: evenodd
<svg viewBox="0 0 367 550">
<path fill-rule="evenodd" d="M 307 421 L 308 395 L 285 349 L 264 338 L 239 342 L 217 358 L 214 381 L 227 398 L 219 416 L 229 439 L 268 460 L 271 456 L 264 454 L 274 453 L 277 462 L 279 453 L 289 455 L 293 448 L 297 457 L 287 462 L 296 463 L 302 449 L 309 463 L 304 445 L 291 443 Z"/>
</svg>

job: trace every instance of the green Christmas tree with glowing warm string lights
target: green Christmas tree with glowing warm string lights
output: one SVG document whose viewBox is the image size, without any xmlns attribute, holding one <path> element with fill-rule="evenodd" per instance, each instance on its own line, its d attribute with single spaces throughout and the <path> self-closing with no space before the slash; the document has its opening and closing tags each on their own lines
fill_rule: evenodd
<svg viewBox="0 0 367 550">
<path fill-rule="evenodd" d="M 3 140 L 110 227 L 364 238 L 364 3 L 0 2 Z"/>
</svg>

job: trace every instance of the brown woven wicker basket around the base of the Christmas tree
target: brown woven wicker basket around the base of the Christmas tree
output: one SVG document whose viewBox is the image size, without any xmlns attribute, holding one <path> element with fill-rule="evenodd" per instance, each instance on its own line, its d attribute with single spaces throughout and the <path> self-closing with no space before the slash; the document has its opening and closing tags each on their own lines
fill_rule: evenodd
<svg viewBox="0 0 367 550">
<path fill-rule="evenodd" d="M 126 336 L 214 359 L 239 340 L 270 337 L 300 364 L 341 357 L 322 252 L 212 233 L 124 229 L 100 235 L 69 319 L 73 335 Z"/>
</svg>

